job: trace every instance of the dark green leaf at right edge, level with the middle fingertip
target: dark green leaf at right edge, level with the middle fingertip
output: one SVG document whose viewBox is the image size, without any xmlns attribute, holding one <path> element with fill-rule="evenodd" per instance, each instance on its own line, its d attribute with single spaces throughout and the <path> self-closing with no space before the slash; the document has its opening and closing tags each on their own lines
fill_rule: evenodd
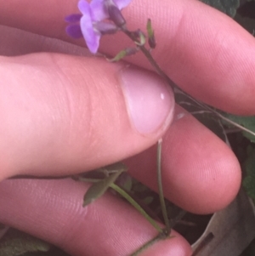
<svg viewBox="0 0 255 256">
<path fill-rule="evenodd" d="M 246 177 L 243 179 L 242 185 L 246 193 L 255 200 L 255 149 L 249 152 L 249 156 L 244 164 Z"/>
</svg>

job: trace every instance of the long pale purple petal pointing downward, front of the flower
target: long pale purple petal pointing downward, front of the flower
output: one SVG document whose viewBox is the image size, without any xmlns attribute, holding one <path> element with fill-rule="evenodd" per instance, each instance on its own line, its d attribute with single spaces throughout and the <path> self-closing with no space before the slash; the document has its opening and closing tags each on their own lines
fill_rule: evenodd
<svg viewBox="0 0 255 256">
<path fill-rule="evenodd" d="M 83 15 L 81 19 L 82 35 L 87 43 L 88 49 L 92 54 L 96 54 L 99 48 L 99 40 L 101 35 L 94 31 L 90 15 Z"/>
</svg>

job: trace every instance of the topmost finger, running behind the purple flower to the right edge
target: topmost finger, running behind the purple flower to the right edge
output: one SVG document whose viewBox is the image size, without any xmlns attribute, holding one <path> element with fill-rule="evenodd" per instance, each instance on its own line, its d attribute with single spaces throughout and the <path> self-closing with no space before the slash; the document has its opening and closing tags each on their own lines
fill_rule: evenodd
<svg viewBox="0 0 255 256">
<path fill-rule="evenodd" d="M 46 0 L 40 3 L 1 0 L 0 3 L 1 24 L 69 40 L 62 20 L 65 15 L 77 12 L 77 1 L 62 4 Z M 15 15 L 14 6 L 20 10 Z M 145 0 L 133 1 L 123 13 L 131 29 L 143 28 L 148 17 L 153 20 L 158 42 L 153 55 L 178 86 L 224 111 L 255 113 L 254 40 L 234 20 L 190 0 L 150 4 Z M 116 54 L 127 45 L 130 42 L 123 35 L 105 37 L 100 50 Z M 150 66 L 140 54 L 129 61 Z"/>
</svg>

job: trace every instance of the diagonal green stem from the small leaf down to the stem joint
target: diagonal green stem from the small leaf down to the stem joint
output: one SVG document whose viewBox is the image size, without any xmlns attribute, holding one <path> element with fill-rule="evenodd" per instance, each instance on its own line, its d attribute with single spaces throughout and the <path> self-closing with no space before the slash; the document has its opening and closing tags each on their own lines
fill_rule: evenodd
<svg viewBox="0 0 255 256">
<path fill-rule="evenodd" d="M 150 224 L 153 225 L 153 226 L 155 227 L 155 229 L 156 229 L 158 232 L 160 232 L 160 233 L 163 232 L 163 230 L 162 230 L 161 227 L 156 223 L 156 221 L 155 221 L 154 219 L 150 218 L 150 215 L 149 215 L 148 213 L 146 213 L 146 212 L 144 211 L 144 209 L 141 208 L 141 207 L 139 206 L 139 204 L 138 204 L 137 202 L 135 202 L 135 201 L 133 200 L 133 198 L 127 194 L 126 191 L 122 190 L 122 188 L 119 187 L 119 186 L 116 185 L 116 184 L 111 184 L 110 187 L 111 187 L 114 191 L 118 192 L 118 193 L 119 193 L 121 196 L 123 196 L 125 199 L 127 199 L 127 201 L 128 201 L 131 205 L 133 205 L 133 207 L 136 208 L 136 209 L 139 211 L 139 213 L 141 213 L 141 214 L 144 216 L 144 218 L 147 219 L 147 220 L 150 222 Z"/>
</svg>

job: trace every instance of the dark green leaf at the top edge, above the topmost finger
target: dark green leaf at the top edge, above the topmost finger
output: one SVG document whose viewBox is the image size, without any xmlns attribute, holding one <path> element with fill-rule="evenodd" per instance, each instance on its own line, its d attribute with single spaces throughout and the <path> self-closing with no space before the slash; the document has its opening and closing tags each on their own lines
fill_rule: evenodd
<svg viewBox="0 0 255 256">
<path fill-rule="evenodd" d="M 235 17 L 236 9 L 238 9 L 240 5 L 239 0 L 201 0 L 201 2 L 218 9 L 230 17 Z"/>
</svg>

